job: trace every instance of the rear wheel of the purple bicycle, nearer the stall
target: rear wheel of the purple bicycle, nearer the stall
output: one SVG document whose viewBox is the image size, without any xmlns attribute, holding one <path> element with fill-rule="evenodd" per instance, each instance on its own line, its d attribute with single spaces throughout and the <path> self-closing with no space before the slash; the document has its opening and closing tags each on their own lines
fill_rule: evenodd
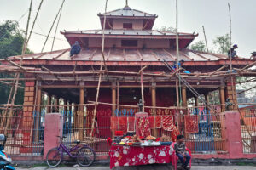
<svg viewBox="0 0 256 170">
<path fill-rule="evenodd" d="M 95 152 L 88 146 L 84 146 L 77 152 L 77 162 L 81 167 L 90 167 L 95 161 Z"/>
</svg>

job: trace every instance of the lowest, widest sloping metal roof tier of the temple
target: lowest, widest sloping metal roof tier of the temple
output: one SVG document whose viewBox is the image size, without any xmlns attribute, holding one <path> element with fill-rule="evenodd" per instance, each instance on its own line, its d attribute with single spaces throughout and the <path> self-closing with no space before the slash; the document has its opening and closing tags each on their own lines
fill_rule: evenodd
<svg viewBox="0 0 256 170">
<path fill-rule="evenodd" d="M 167 61 L 175 61 L 177 54 L 175 50 L 170 48 L 160 49 L 121 49 L 121 48 L 106 48 L 104 52 L 107 61 L 119 61 L 119 62 L 132 62 L 132 61 L 161 61 L 166 59 Z M 20 59 L 20 56 L 9 57 L 9 59 Z M 80 54 L 69 57 L 69 49 L 63 49 L 42 54 L 27 54 L 23 58 L 24 60 L 81 60 L 81 61 L 101 61 L 102 52 L 101 48 L 89 48 L 83 49 Z M 202 52 L 195 52 L 189 49 L 183 49 L 180 51 L 179 59 L 184 61 L 216 61 L 218 59 L 227 59 L 226 55 L 221 54 L 207 54 Z"/>
</svg>

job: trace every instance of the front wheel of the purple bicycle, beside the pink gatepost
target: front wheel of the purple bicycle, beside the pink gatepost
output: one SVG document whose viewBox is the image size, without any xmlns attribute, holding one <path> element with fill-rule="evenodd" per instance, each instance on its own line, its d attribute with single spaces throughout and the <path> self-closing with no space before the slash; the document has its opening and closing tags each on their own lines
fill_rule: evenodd
<svg viewBox="0 0 256 170">
<path fill-rule="evenodd" d="M 62 160 L 62 153 L 59 148 L 49 150 L 46 155 L 46 162 L 49 167 L 58 167 Z"/>
</svg>

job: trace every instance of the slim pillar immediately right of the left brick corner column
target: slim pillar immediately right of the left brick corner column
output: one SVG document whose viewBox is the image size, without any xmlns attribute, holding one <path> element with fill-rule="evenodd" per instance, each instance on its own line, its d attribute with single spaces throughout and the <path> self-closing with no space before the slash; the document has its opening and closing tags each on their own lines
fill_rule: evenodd
<svg viewBox="0 0 256 170">
<path fill-rule="evenodd" d="M 40 127 L 40 120 L 41 120 L 41 101 L 42 101 L 42 88 L 41 88 L 41 82 L 38 81 L 38 88 L 37 88 L 37 112 L 36 112 L 36 134 L 34 141 L 39 141 L 39 127 Z"/>
</svg>

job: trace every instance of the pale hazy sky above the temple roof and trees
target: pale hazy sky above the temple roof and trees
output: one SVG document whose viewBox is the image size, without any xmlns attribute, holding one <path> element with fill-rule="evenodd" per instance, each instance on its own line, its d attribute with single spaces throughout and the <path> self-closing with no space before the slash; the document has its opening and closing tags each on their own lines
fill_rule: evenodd
<svg viewBox="0 0 256 170">
<path fill-rule="evenodd" d="M 62 0 L 44 0 L 38 17 L 35 32 L 47 34 Z M 35 16 L 40 0 L 34 0 L 32 19 Z M 176 0 L 129 0 L 129 6 L 151 14 L 158 14 L 155 27 L 175 26 Z M 29 8 L 30 0 L 0 0 L 0 22 L 3 20 L 19 20 Z M 232 10 L 232 42 L 237 43 L 238 54 L 249 57 L 256 51 L 256 15 L 255 0 L 179 0 L 179 31 L 198 32 L 196 41 L 203 40 L 202 26 L 207 31 L 207 41 L 214 49 L 212 39 L 229 32 L 228 3 Z M 66 0 L 57 37 L 55 49 L 68 48 L 65 38 L 59 33 L 67 31 L 100 28 L 97 13 L 104 11 L 105 0 Z M 123 8 L 125 0 L 108 0 L 108 11 Z M 20 27 L 26 28 L 27 14 L 20 20 Z M 52 33 L 52 35 L 54 32 Z M 45 37 L 32 35 L 29 48 L 40 52 Z M 45 51 L 49 51 L 52 39 L 49 39 Z"/>
</svg>

